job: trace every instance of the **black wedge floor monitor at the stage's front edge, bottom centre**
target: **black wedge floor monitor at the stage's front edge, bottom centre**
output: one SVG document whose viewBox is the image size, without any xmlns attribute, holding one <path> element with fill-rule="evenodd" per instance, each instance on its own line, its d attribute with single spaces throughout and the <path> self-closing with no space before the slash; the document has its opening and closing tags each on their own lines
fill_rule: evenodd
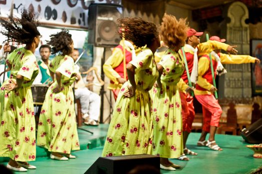
<svg viewBox="0 0 262 174">
<path fill-rule="evenodd" d="M 160 170 L 160 158 L 147 154 L 99 157 L 85 174 L 127 174 L 141 165 L 153 166 Z"/>
</svg>

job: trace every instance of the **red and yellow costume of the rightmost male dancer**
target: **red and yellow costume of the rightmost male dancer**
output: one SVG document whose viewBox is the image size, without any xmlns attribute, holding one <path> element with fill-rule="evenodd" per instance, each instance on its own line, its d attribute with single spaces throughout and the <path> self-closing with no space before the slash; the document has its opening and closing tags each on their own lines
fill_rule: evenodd
<svg viewBox="0 0 262 174">
<path fill-rule="evenodd" d="M 198 83 L 195 89 L 197 100 L 202 104 L 204 124 L 203 130 L 210 131 L 210 126 L 219 126 L 219 120 L 222 114 L 222 109 L 218 100 L 210 92 L 213 87 L 212 72 L 210 67 L 209 53 L 215 49 L 227 50 L 229 45 L 218 41 L 207 41 L 198 46 Z M 254 57 L 248 55 L 228 55 L 218 53 L 222 64 L 243 64 L 255 63 Z M 213 68 L 216 78 L 217 61 L 212 56 Z"/>
</svg>

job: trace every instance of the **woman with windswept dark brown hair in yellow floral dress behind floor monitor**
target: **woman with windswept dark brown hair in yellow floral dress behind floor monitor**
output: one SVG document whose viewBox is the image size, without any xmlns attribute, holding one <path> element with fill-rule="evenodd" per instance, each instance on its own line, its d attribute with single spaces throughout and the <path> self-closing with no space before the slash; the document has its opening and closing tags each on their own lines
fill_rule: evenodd
<svg viewBox="0 0 262 174">
<path fill-rule="evenodd" d="M 154 52 L 160 46 L 155 24 L 141 18 L 119 19 L 124 37 L 134 45 L 146 48 L 127 65 L 129 81 L 120 89 L 102 156 L 121 156 L 150 153 L 152 115 L 149 90 L 158 71 Z M 123 33 L 120 33 L 123 36 Z"/>
</svg>

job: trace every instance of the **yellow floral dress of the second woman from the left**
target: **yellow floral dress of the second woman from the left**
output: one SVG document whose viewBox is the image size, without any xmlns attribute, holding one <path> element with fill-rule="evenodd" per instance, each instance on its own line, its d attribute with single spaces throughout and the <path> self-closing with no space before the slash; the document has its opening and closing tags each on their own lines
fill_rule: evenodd
<svg viewBox="0 0 262 174">
<path fill-rule="evenodd" d="M 61 73 L 61 91 L 54 93 L 55 82 L 48 88 L 40 112 L 37 146 L 50 152 L 70 154 L 79 150 L 74 95 L 71 87 L 75 80 L 74 61 L 70 56 L 56 56 L 49 64 L 53 73 Z"/>
</svg>

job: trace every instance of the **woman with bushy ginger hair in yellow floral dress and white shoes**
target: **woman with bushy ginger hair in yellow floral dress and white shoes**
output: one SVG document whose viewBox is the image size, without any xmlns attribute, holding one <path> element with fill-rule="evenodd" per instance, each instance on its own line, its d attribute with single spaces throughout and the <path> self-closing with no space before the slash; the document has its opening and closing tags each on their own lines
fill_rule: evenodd
<svg viewBox="0 0 262 174">
<path fill-rule="evenodd" d="M 165 14 L 160 37 L 168 46 L 158 66 L 161 77 L 153 89 L 153 155 L 160 156 L 160 167 L 175 170 L 179 166 L 168 158 L 183 154 L 181 101 L 177 84 L 184 72 L 183 57 L 178 53 L 187 38 L 186 20 L 177 21 L 175 16 Z M 161 78 L 161 79 L 160 79 Z"/>
</svg>

